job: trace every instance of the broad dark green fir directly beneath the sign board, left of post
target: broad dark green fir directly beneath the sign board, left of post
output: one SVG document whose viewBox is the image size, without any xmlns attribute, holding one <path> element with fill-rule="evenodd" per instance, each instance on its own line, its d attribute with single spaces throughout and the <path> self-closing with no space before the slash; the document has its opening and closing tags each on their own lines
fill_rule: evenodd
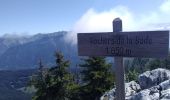
<svg viewBox="0 0 170 100">
<path fill-rule="evenodd" d="M 89 57 L 81 64 L 84 85 L 81 88 L 81 99 L 99 100 L 101 95 L 113 87 L 111 64 L 104 57 Z"/>
</svg>

